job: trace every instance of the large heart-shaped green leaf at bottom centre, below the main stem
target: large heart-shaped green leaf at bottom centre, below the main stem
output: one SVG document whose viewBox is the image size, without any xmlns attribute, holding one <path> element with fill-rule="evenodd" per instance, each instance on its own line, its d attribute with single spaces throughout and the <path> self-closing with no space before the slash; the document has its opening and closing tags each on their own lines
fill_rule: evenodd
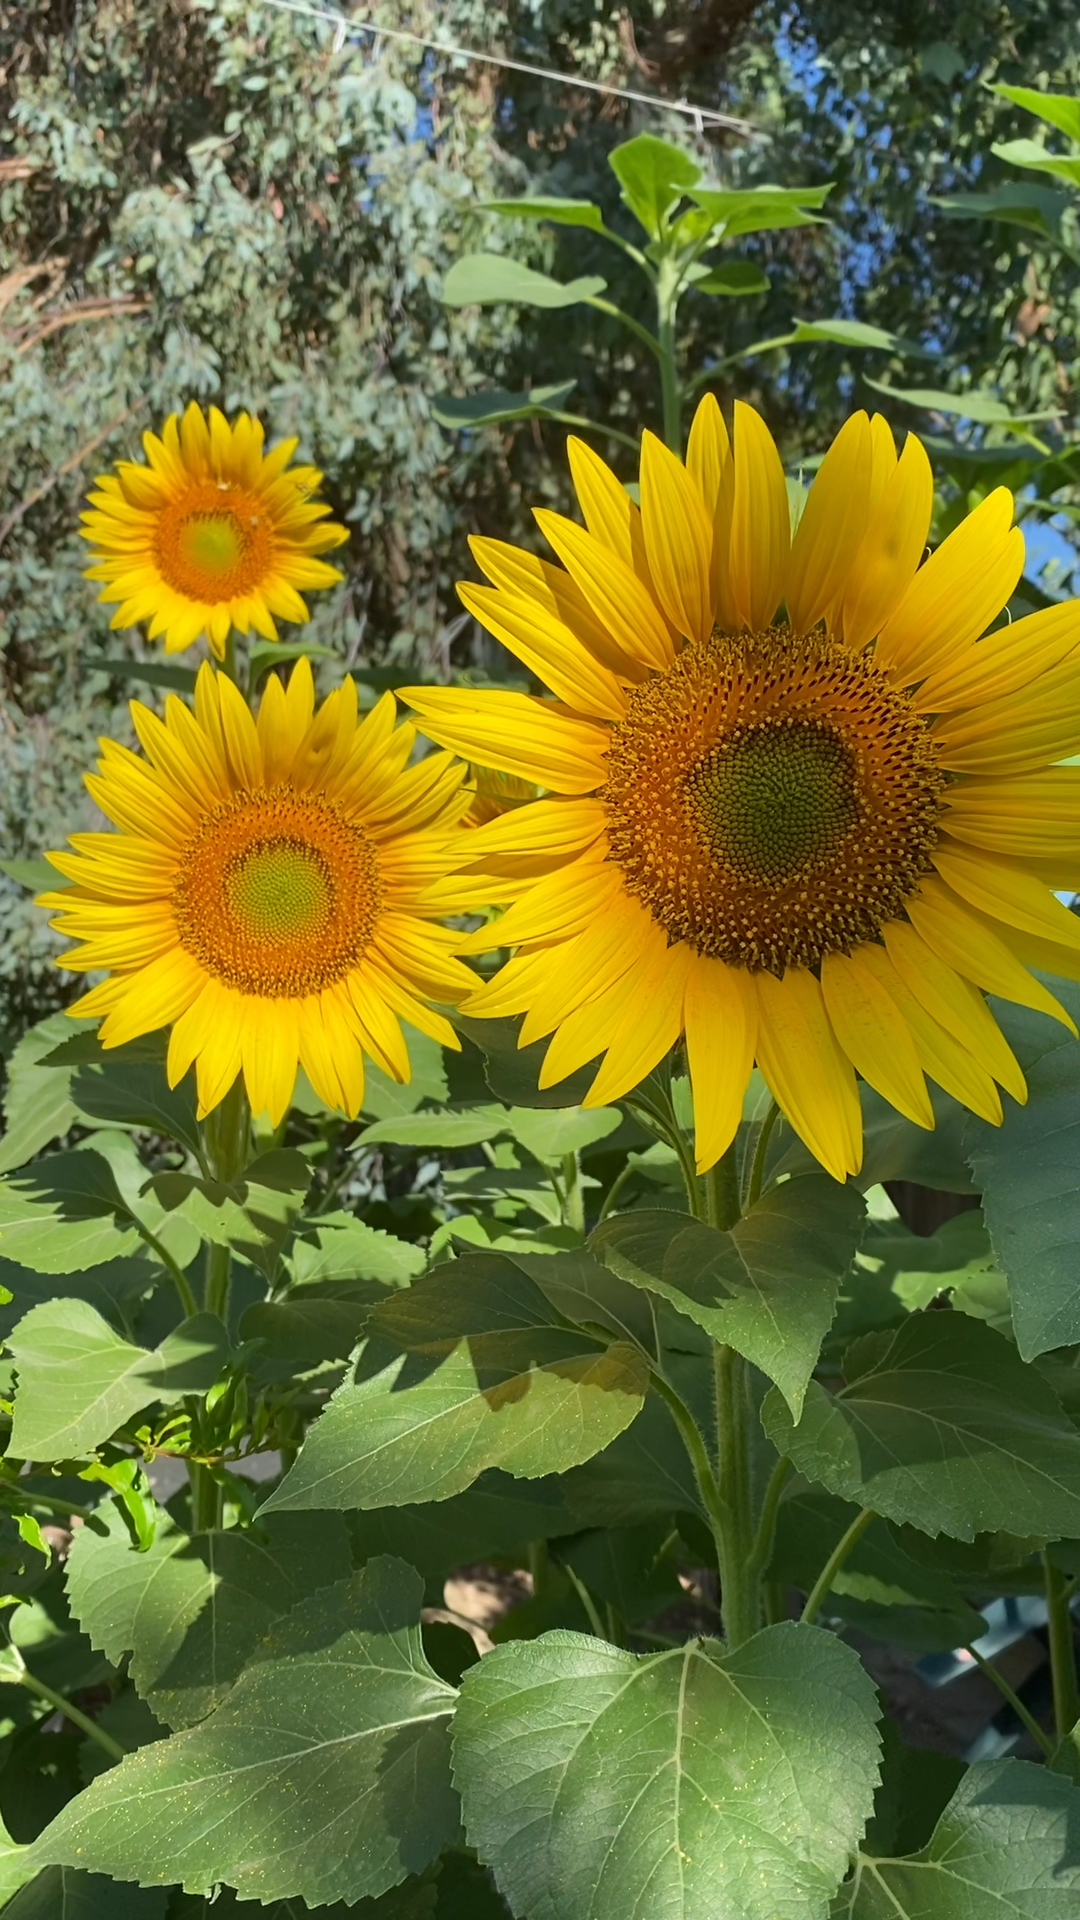
<svg viewBox="0 0 1080 1920">
<path fill-rule="evenodd" d="M 469 1839 L 528 1920 L 821 1920 L 876 1776 L 872 1680 L 813 1626 L 644 1659 L 515 1642 L 454 1722 Z"/>
</svg>

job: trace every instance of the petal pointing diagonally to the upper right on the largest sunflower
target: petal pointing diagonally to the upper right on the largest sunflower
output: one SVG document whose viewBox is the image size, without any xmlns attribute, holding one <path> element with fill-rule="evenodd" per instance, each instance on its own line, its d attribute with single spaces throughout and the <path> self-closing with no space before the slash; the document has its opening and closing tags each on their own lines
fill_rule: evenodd
<svg viewBox="0 0 1080 1920">
<path fill-rule="evenodd" d="M 919 568 L 899 607 L 878 634 L 874 660 L 897 680 L 920 680 L 955 660 L 1001 611 L 1024 564 L 1013 538 L 1013 495 L 995 488 Z"/>
</svg>

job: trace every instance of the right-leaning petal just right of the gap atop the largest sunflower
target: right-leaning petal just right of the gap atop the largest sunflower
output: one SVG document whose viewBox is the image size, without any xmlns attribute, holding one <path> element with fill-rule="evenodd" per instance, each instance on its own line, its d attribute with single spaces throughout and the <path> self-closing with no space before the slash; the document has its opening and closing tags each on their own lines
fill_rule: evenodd
<svg viewBox="0 0 1080 1920">
<path fill-rule="evenodd" d="M 871 422 L 853 413 L 817 470 L 792 541 L 784 599 L 794 634 L 809 634 L 842 597 L 867 530 L 869 490 Z"/>
</svg>

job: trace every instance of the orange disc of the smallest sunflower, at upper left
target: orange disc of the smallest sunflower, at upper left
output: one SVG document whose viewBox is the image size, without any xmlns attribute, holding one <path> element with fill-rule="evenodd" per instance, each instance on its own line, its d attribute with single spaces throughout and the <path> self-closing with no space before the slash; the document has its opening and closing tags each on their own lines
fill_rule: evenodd
<svg viewBox="0 0 1080 1920">
<path fill-rule="evenodd" d="M 154 557 L 186 599 L 215 605 L 250 593 L 273 563 L 265 507 L 246 488 L 200 480 L 161 511 Z"/>
</svg>

